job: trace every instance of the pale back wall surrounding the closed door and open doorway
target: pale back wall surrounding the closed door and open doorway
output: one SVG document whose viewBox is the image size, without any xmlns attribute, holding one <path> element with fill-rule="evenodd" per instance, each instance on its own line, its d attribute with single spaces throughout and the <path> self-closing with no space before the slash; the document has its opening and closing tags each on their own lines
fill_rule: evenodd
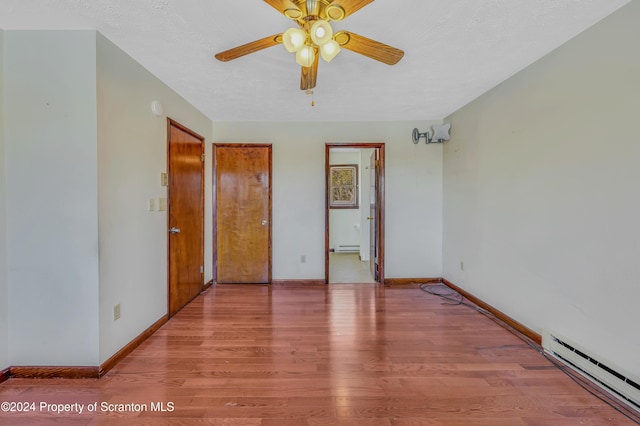
<svg viewBox="0 0 640 426">
<path fill-rule="evenodd" d="M 386 277 L 442 276 L 442 146 L 411 142 L 429 124 L 214 122 L 215 142 L 273 144 L 273 279 L 324 278 L 325 143 L 367 141 L 386 144 Z"/>
</svg>

